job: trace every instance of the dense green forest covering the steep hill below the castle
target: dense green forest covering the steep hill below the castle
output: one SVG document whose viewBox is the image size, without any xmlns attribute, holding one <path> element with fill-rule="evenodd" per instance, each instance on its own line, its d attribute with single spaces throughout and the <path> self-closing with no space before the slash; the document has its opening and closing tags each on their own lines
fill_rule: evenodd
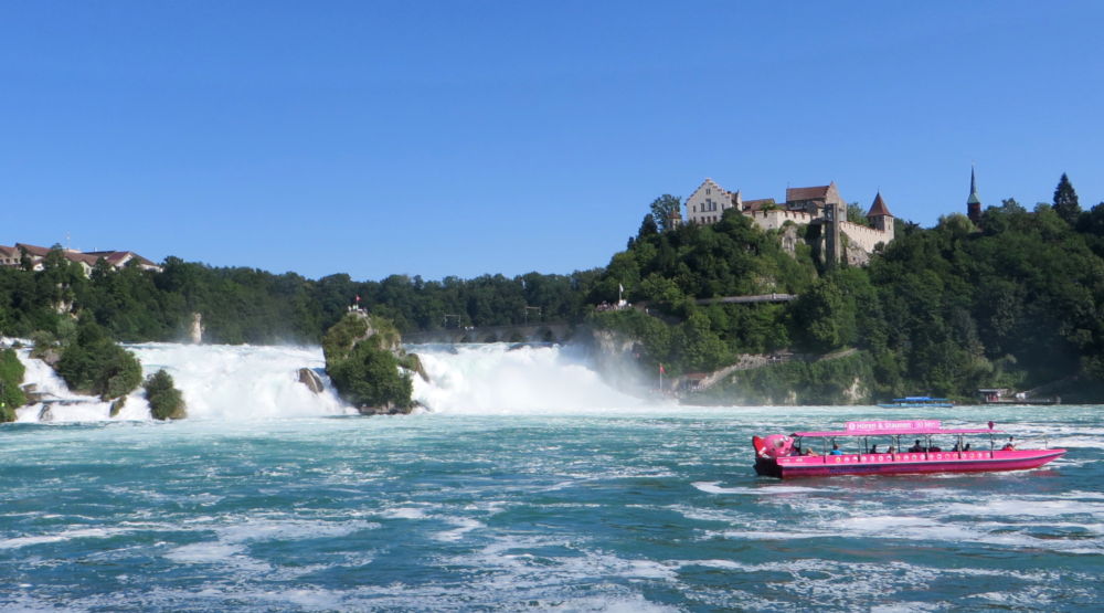
<svg viewBox="0 0 1104 613">
<path fill-rule="evenodd" d="M 1064 176 L 1054 203 L 1033 211 L 1009 199 L 977 225 L 963 214 L 932 229 L 899 220 L 896 239 L 867 267 L 826 268 L 805 249 L 787 256 L 769 234 L 734 211 L 667 232 L 645 220 L 597 286 L 634 279 L 630 298 L 648 300 L 655 316 L 598 318 L 640 338 L 645 359 L 673 373 L 711 371 L 741 353 L 853 350 L 735 373 L 713 392 L 718 401 L 846 402 L 857 379 L 869 383 L 868 400 L 966 400 L 979 388 L 1049 383 L 1070 401 L 1104 398 L 1104 203 L 1082 211 Z M 800 296 L 694 304 L 768 292 Z"/>
</svg>

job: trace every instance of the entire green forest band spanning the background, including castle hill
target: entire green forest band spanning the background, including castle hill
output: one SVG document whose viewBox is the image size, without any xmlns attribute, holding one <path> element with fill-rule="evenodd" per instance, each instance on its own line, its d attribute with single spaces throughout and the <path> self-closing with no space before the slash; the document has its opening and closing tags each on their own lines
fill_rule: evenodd
<svg viewBox="0 0 1104 613">
<path fill-rule="evenodd" d="M 825 267 L 808 244 L 786 251 L 782 231 L 763 232 L 731 211 L 703 226 L 668 229 L 664 219 L 662 209 L 646 215 L 603 268 L 513 278 L 308 279 L 177 257 L 161 272 L 102 263 L 85 277 L 55 251 L 42 271 L 0 268 L 0 335 L 62 338 L 78 314 L 116 340 L 173 341 L 199 313 L 209 342 L 317 344 L 358 304 L 404 332 L 590 321 L 638 338 L 643 366 L 661 363 L 672 376 L 746 353 L 848 352 L 747 371 L 715 392 L 739 387 L 750 402 L 778 401 L 783 388 L 796 394 L 789 401 L 843 402 L 856 378 L 871 399 L 966 399 L 983 387 L 1051 382 L 1064 382 L 1070 400 L 1104 397 L 1104 203 L 1082 211 L 1064 176 L 1053 204 L 1028 211 L 1005 200 L 977 225 L 962 214 L 932 229 L 898 220 L 896 239 L 866 267 Z M 696 303 L 765 293 L 799 298 Z M 620 296 L 646 310 L 596 313 Z"/>
</svg>

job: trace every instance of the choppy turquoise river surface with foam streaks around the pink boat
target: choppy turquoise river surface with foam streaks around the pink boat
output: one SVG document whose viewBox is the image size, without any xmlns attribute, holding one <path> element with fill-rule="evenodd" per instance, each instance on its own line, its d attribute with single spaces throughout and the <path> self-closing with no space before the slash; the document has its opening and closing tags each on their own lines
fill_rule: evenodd
<svg viewBox="0 0 1104 613">
<path fill-rule="evenodd" d="M 1098 610 L 1101 408 L 923 415 L 1070 450 L 1032 472 L 751 469 L 875 411 L 9 424 L 0 609 Z"/>
</svg>

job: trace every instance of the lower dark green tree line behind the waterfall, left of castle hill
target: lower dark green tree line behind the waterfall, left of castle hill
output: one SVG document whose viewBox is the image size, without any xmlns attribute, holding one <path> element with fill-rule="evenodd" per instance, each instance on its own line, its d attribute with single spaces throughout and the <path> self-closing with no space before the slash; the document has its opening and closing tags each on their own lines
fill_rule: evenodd
<svg viewBox="0 0 1104 613">
<path fill-rule="evenodd" d="M 392 275 L 379 282 L 336 274 L 316 281 L 168 257 L 161 272 L 138 266 L 117 271 L 100 261 L 85 277 L 78 264 L 55 249 L 42 271 L 0 267 L 0 334 L 25 338 L 44 330 L 61 336 L 72 311 L 91 317 L 116 340 L 173 341 L 187 337 L 192 314 L 199 313 L 210 342 L 317 344 L 354 303 L 404 332 L 570 321 L 585 315 L 598 274 L 442 281 Z"/>
</svg>

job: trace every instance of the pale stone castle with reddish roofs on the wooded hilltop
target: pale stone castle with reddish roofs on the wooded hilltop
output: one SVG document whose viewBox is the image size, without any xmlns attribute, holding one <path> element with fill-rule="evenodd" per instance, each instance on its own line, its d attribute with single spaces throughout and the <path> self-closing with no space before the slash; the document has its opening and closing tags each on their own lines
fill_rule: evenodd
<svg viewBox="0 0 1104 613">
<path fill-rule="evenodd" d="M 744 200 L 740 190 L 731 192 L 707 178 L 686 201 L 687 222 L 709 224 L 721 220 L 729 209 L 735 209 L 763 230 L 782 229 L 786 222 L 796 225 L 818 225 L 821 229 L 826 262 L 842 258 L 862 264 L 879 244 L 893 240 L 893 214 L 881 192 L 867 212 L 869 225 L 847 220 L 847 204 L 832 181 L 827 186 L 787 188 L 786 201 L 773 198 Z M 681 219 L 681 215 L 680 215 Z"/>
</svg>

